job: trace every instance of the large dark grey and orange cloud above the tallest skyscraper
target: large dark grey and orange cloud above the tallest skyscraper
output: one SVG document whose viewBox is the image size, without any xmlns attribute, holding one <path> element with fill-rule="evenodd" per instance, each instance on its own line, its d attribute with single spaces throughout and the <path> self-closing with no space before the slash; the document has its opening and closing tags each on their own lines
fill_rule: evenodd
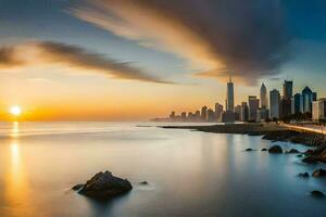
<svg viewBox="0 0 326 217">
<path fill-rule="evenodd" d="M 290 40 L 279 0 L 91 0 L 72 13 L 111 33 L 174 52 L 247 84 L 278 73 Z"/>
</svg>

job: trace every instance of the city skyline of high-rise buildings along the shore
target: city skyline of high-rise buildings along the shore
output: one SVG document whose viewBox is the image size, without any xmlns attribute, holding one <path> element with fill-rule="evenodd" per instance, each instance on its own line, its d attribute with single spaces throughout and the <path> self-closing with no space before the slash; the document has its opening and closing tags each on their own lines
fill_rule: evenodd
<svg viewBox="0 0 326 217">
<path fill-rule="evenodd" d="M 247 102 L 235 105 L 235 91 L 231 78 L 227 82 L 225 110 L 216 103 L 214 110 L 203 106 L 201 111 L 172 112 L 166 120 L 171 122 L 264 122 L 278 119 L 296 119 L 304 116 L 313 120 L 326 119 L 326 98 L 317 99 L 317 93 L 305 87 L 293 94 L 293 81 L 285 80 L 283 92 L 267 89 L 262 84 L 260 98 L 249 95 Z"/>
</svg>

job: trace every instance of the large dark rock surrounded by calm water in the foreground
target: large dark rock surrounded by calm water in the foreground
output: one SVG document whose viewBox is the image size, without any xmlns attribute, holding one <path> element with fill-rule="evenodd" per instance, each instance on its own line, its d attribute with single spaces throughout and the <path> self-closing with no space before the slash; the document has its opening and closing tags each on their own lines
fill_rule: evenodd
<svg viewBox="0 0 326 217">
<path fill-rule="evenodd" d="M 114 177 L 110 171 L 100 171 L 88 180 L 78 192 L 95 200 L 106 201 L 131 191 L 127 179 Z"/>
</svg>

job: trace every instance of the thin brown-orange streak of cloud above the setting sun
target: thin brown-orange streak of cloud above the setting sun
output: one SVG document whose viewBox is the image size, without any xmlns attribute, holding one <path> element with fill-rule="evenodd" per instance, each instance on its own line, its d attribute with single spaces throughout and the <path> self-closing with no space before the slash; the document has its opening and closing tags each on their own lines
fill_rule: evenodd
<svg viewBox="0 0 326 217">
<path fill-rule="evenodd" d="M 25 44 L 0 48 L 0 69 L 37 64 L 62 64 L 105 74 L 117 79 L 168 84 L 146 74 L 129 63 L 118 62 L 102 54 L 65 43 L 36 41 Z"/>
</svg>

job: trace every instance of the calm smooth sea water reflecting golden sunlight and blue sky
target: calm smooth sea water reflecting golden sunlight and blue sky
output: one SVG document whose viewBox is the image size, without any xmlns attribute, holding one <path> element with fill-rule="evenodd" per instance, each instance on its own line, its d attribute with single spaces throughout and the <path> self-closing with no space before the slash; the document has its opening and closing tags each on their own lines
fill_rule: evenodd
<svg viewBox="0 0 326 217">
<path fill-rule="evenodd" d="M 299 178 L 296 155 L 243 152 L 261 137 L 136 127 L 135 123 L 0 124 L 1 217 L 325 216 L 326 179 Z M 305 146 L 281 143 L 285 149 Z M 97 203 L 70 188 L 100 170 L 134 190 Z M 149 186 L 138 182 L 147 180 Z"/>
</svg>

